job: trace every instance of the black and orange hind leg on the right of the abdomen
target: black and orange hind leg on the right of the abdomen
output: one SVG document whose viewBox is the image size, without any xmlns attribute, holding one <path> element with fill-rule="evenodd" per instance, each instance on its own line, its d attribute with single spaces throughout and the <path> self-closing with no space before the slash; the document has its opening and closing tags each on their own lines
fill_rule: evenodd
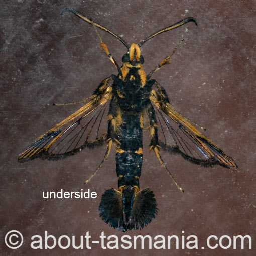
<svg viewBox="0 0 256 256">
<path fill-rule="evenodd" d="M 175 178 L 172 176 L 172 174 L 170 173 L 170 171 L 166 167 L 166 165 L 165 165 L 165 163 L 164 163 L 164 161 L 163 161 L 163 159 L 160 155 L 160 146 L 159 146 L 159 140 L 158 140 L 158 135 L 157 135 L 157 119 L 156 119 L 156 115 L 155 115 L 155 110 L 154 110 L 154 108 L 151 104 L 148 107 L 148 116 L 149 116 L 149 127 L 148 127 L 148 129 L 150 130 L 150 136 L 151 136 L 150 150 L 155 152 L 155 154 L 157 156 L 157 159 L 159 160 L 160 164 L 165 168 L 166 172 L 171 177 L 171 179 L 174 182 L 174 184 L 176 185 L 176 187 L 179 190 L 181 190 L 182 192 L 184 192 L 184 190 L 179 186 L 179 184 L 177 183 Z"/>
</svg>

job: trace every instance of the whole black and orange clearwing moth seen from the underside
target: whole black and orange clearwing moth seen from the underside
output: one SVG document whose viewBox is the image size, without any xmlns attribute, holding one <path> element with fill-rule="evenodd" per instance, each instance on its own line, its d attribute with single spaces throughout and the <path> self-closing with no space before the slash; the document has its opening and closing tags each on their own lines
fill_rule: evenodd
<svg viewBox="0 0 256 256">
<path fill-rule="evenodd" d="M 85 182 L 88 183 L 115 149 L 118 189 L 107 188 L 99 205 L 100 217 L 106 224 L 123 232 L 147 226 L 157 215 L 157 202 L 149 188 L 140 190 L 139 179 L 143 162 L 143 131 L 148 131 L 149 149 L 180 189 L 160 152 L 179 154 L 185 160 L 205 167 L 221 165 L 237 170 L 235 161 L 215 143 L 204 136 L 197 124 L 178 113 L 170 104 L 165 89 L 151 76 L 162 66 L 169 64 L 174 51 L 166 56 L 148 75 L 143 69 L 142 45 L 151 38 L 178 28 L 188 22 L 197 25 L 193 17 L 187 17 L 171 26 L 158 30 L 139 44 L 127 44 L 120 36 L 88 19 L 72 8 L 71 12 L 93 25 L 100 39 L 100 48 L 117 69 L 117 75 L 105 78 L 93 95 L 81 102 L 84 105 L 52 129 L 41 135 L 19 154 L 18 161 L 35 158 L 59 160 L 77 154 L 81 150 L 106 145 L 103 160 Z M 117 38 L 127 48 L 119 66 L 97 28 Z M 76 103 L 76 102 L 75 102 Z M 102 130 L 105 124 L 105 131 Z M 197 128 L 196 128 L 197 127 Z M 202 129 L 202 127 L 199 127 Z"/>
</svg>

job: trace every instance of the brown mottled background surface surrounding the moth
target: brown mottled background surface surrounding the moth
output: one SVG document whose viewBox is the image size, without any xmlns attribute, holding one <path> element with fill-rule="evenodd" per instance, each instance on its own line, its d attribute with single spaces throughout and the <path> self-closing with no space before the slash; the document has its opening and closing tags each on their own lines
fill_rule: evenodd
<svg viewBox="0 0 256 256">
<path fill-rule="evenodd" d="M 255 255 L 255 1 L 1 1 L 1 255 Z M 176 109 L 207 127 L 206 135 L 232 156 L 240 169 L 203 168 L 179 156 L 163 154 L 185 193 L 172 184 L 154 155 L 144 147 L 141 188 L 150 187 L 159 214 L 141 231 L 127 235 L 197 235 L 199 249 L 91 250 L 55 248 L 32 250 L 30 237 L 44 230 L 56 237 L 85 235 L 99 240 L 123 233 L 105 225 L 98 216 L 100 196 L 117 187 L 114 153 L 88 185 L 104 149 L 86 150 L 58 162 L 36 159 L 18 163 L 19 152 L 79 106 L 53 107 L 53 102 L 88 97 L 105 77 L 116 73 L 98 49 L 92 26 L 66 7 L 139 42 L 152 32 L 186 16 L 198 21 L 161 34 L 142 47 L 146 73 L 185 43 L 170 65 L 154 75 Z M 100 34 L 120 63 L 125 47 L 105 32 Z M 43 199 L 42 191 L 96 191 L 96 199 Z M 24 244 L 11 250 L 5 234 L 19 230 Z M 201 249 L 209 235 L 250 235 L 252 249 Z M 147 247 L 147 246 L 146 246 Z M 254 251 L 254 252 L 253 252 Z"/>
</svg>

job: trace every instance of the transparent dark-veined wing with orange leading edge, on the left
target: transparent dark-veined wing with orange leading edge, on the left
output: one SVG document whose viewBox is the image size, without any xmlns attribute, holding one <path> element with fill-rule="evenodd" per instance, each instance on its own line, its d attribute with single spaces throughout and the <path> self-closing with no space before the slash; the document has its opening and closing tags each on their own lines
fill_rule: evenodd
<svg viewBox="0 0 256 256">
<path fill-rule="evenodd" d="M 18 161 L 34 158 L 58 160 L 74 155 L 85 147 L 100 146 L 105 143 L 107 131 L 108 102 L 112 87 L 107 86 L 107 78 L 83 107 L 67 117 L 55 127 L 41 135 L 32 145 L 19 154 Z"/>
</svg>

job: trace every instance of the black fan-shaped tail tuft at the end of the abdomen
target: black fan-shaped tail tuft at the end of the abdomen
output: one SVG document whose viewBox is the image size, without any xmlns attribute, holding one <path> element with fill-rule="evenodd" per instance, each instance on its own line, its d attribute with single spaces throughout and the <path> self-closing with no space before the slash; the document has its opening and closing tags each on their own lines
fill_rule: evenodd
<svg viewBox="0 0 256 256">
<path fill-rule="evenodd" d="M 147 226 L 157 214 L 155 195 L 149 188 L 138 191 L 134 186 L 123 186 L 119 191 L 105 190 L 99 205 L 99 216 L 113 228 L 123 232 Z"/>
</svg>

